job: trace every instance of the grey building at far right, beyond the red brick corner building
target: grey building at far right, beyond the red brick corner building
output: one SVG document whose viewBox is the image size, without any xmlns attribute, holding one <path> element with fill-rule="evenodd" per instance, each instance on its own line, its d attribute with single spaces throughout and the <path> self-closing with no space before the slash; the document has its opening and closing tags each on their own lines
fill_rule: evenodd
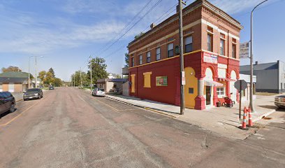
<svg viewBox="0 0 285 168">
<path fill-rule="evenodd" d="M 250 74 L 250 66 L 240 66 L 240 73 Z M 282 61 L 254 64 L 256 92 L 285 92 L 285 63 Z"/>
</svg>

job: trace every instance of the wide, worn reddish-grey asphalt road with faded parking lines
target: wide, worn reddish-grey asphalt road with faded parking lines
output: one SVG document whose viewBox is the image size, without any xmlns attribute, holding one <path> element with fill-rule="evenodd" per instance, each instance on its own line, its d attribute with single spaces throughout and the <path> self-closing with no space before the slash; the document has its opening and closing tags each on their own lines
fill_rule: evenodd
<svg viewBox="0 0 285 168">
<path fill-rule="evenodd" d="M 270 127 L 227 139 L 62 87 L 1 116 L 0 167 L 285 167 L 284 123 Z"/>
</svg>

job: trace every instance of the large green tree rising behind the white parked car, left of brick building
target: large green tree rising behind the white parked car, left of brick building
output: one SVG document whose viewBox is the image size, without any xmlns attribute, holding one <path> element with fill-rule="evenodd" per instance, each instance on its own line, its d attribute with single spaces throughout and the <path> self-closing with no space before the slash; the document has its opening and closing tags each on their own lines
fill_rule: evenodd
<svg viewBox="0 0 285 168">
<path fill-rule="evenodd" d="M 105 59 L 101 57 L 92 58 L 89 61 L 89 69 L 92 65 L 92 83 L 96 83 L 96 81 L 100 78 L 108 78 L 108 73 L 106 71 L 107 64 L 105 64 Z M 87 78 L 90 81 L 90 71 L 87 72 Z"/>
</svg>

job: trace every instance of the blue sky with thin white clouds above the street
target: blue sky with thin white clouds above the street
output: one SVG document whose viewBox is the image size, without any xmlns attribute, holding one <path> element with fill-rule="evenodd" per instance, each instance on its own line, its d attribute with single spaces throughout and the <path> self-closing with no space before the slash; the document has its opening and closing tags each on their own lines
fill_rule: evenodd
<svg viewBox="0 0 285 168">
<path fill-rule="evenodd" d="M 0 67 L 19 66 L 28 71 L 30 55 L 38 59 L 38 71 L 54 68 L 57 77 L 69 80 L 82 67 L 87 71 L 89 55 L 106 59 L 108 72 L 120 73 L 126 45 L 140 31 L 175 6 L 177 0 L 152 0 L 140 13 L 136 26 L 108 50 L 108 42 L 149 0 L 0 0 Z M 187 4 L 193 0 L 187 1 Z M 249 41 L 250 11 L 261 0 L 210 0 L 241 22 L 241 42 Z M 258 62 L 285 61 L 285 1 L 269 0 L 254 13 L 254 59 Z M 174 8 L 173 8 L 174 9 Z M 173 10 L 170 10 L 173 11 Z M 165 15 L 163 15 L 165 17 Z M 127 27 L 129 29 L 129 27 Z M 125 31 L 127 30 L 125 29 Z M 125 33 L 125 31 L 123 31 Z M 105 47 L 105 48 L 104 48 Z M 103 48 L 103 50 L 102 50 Z M 242 59 L 241 64 L 249 64 Z M 34 73 L 34 60 L 31 61 Z"/>
</svg>

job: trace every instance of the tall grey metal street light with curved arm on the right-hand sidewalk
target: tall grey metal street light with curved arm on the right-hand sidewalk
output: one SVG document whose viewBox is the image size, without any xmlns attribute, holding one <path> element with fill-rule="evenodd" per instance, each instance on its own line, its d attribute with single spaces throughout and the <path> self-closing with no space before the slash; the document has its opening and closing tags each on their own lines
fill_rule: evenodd
<svg viewBox="0 0 285 168">
<path fill-rule="evenodd" d="M 268 0 L 265 0 L 268 1 Z M 249 94 L 249 106 L 251 108 L 251 111 L 254 111 L 254 101 L 253 101 L 253 95 L 254 95 L 254 10 L 260 6 L 262 3 L 265 3 L 265 1 L 262 1 L 261 3 L 258 3 L 257 6 L 254 7 L 253 10 L 251 10 L 250 15 L 250 94 Z"/>
</svg>

